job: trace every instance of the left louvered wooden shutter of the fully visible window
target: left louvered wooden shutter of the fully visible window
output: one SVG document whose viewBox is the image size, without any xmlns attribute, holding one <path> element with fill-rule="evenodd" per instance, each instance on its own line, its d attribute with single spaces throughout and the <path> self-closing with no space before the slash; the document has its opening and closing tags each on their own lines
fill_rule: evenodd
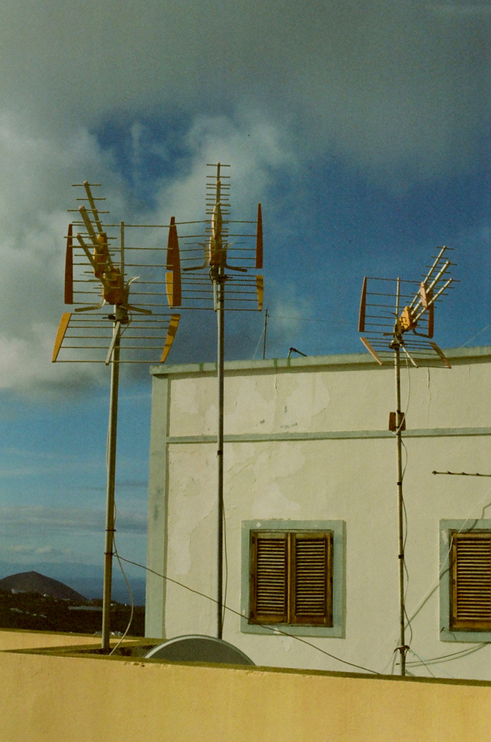
<svg viewBox="0 0 491 742">
<path fill-rule="evenodd" d="M 258 623 L 287 623 L 286 533 L 251 532 L 251 614 Z"/>
</svg>

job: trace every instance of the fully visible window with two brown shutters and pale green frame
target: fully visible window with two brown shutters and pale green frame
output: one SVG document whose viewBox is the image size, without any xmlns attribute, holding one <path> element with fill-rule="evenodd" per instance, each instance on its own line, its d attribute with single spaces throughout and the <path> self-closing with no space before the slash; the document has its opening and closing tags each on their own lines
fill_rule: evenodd
<svg viewBox="0 0 491 742">
<path fill-rule="evenodd" d="M 243 522 L 241 630 L 344 637 L 345 541 L 342 521 Z"/>
</svg>

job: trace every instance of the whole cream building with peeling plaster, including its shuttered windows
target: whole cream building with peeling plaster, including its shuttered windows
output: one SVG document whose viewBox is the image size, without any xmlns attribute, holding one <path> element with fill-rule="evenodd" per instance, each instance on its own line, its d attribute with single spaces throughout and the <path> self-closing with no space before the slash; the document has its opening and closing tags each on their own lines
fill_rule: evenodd
<svg viewBox="0 0 491 742">
<path fill-rule="evenodd" d="M 491 680 L 491 479 L 432 473 L 491 473 L 491 347 L 445 355 L 402 373 L 407 669 Z M 148 567 L 214 599 L 216 367 L 151 372 Z M 225 364 L 223 638 L 257 665 L 398 672 L 394 387 L 368 354 Z M 148 574 L 147 635 L 214 636 L 176 582 Z"/>
</svg>

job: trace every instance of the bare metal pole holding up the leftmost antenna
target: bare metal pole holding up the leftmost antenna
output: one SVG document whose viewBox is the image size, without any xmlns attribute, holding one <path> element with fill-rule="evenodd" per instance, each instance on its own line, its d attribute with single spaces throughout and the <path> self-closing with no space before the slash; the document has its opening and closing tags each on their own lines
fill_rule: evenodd
<svg viewBox="0 0 491 742">
<path fill-rule="evenodd" d="M 114 308 L 116 311 L 116 307 Z M 116 327 L 116 324 L 118 325 Z M 116 434 L 118 424 L 119 390 L 119 323 L 114 323 L 116 341 L 111 357 L 111 398 L 108 430 L 108 494 L 106 500 L 106 531 L 104 551 L 104 590 L 102 595 L 102 649 L 110 649 L 111 636 L 111 582 L 113 576 L 114 537 L 114 481 L 116 475 Z"/>
</svg>

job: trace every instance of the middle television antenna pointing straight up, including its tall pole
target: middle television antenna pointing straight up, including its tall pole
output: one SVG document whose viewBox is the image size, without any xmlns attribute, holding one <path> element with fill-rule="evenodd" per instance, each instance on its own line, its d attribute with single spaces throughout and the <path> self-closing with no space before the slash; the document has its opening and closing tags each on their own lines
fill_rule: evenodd
<svg viewBox="0 0 491 742">
<path fill-rule="evenodd" d="M 190 234 L 179 249 L 177 226 L 200 222 L 179 222 L 172 217 L 167 252 L 167 295 L 169 306 L 190 309 L 214 309 L 217 312 L 217 638 L 223 634 L 223 380 L 225 335 L 225 284 L 228 309 L 251 311 L 263 309 L 262 275 L 251 275 L 251 269 L 263 268 L 263 217 L 257 205 L 254 221 L 231 220 L 230 177 L 223 168 L 230 165 L 208 163 L 214 173 L 207 176 L 205 233 Z M 231 225 L 254 225 L 231 232 Z M 229 242 L 233 237 L 235 240 Z M 251 238 L 255 240 L 251 245 Z M 203 240 L 203 241 L 201 241 Z M 182 255 L 182 258 L 181 258 Z M 182 267 L 181 267 L 182 266 Z M 211 301 L 212 300 L 212 301 Z M 251 306 L 253 305 L 253 306 Z"/>
</svg>

